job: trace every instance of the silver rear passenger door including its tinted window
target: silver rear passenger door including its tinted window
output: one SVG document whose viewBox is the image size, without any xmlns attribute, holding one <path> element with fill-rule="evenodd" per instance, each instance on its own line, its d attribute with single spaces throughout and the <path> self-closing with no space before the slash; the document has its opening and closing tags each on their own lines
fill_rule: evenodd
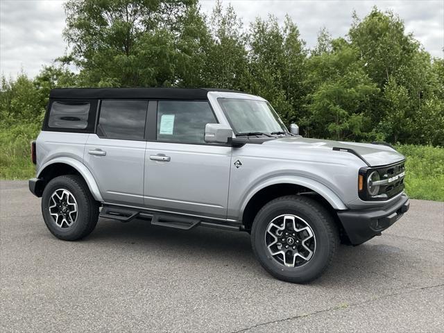
<svg viewBox="0 0 444 333">
<path fill-rule="evenodd" d="M 106 203 L 144 204 L 147 110 L 148 101 L 101 101 L 96 133 L 85 146 L 85 164 Z"/>
</svg>

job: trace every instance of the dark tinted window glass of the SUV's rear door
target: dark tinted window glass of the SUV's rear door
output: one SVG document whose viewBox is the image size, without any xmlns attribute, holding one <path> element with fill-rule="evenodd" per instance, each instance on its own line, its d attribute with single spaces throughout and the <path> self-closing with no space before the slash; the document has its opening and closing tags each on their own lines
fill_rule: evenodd
<svg viewBox="0 0 444 333">
<path fill-rule="evenodd" d="M 97 135 L 107 139 L 143 140 L 148 101 L 102 101 Z"/>
</svg>

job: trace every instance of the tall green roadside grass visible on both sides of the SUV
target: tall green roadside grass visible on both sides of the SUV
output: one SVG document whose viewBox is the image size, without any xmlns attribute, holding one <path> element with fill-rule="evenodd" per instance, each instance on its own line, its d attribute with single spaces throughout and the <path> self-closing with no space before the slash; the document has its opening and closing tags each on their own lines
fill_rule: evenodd
<svg viewBox="0 0 444 333">
<path fill-rule="evenodd" d="M 23 124 L 0 128 L 0 179 L 35 177 L 31 162 L 31 140 L 37 137 L 40 125 Z M 410 198 L 444 201 L 444 148 L 398 145 L 407 157 L 406 192 Z"/>
</svg>

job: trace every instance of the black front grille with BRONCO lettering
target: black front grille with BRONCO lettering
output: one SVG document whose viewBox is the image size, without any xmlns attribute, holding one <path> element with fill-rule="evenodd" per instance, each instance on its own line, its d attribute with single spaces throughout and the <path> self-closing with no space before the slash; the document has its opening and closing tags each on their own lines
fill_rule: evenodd
<svg viewBox="0 0 444 333">
<path fill-rule="evenodd" d="M 386 184 L 380 185 L 379 198 L 391 198 L 404 189 L 404 161 L 376 168 L 376 171 L 381 180 L 388 180 Z"/>
</svg>

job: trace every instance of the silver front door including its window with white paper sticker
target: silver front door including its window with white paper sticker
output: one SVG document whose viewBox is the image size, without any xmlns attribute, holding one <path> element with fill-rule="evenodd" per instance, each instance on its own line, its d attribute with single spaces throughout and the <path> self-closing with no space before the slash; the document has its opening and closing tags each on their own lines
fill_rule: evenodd
<svg viewBox="0 0 444 333">
<path fill-rule="evenodd" d="M 206 144 L 216 123 L 207 101 L 159 101 L 156 141 L 145 155 L 146 207 L 225 219 L 232 148 Z"/>
</svg>

